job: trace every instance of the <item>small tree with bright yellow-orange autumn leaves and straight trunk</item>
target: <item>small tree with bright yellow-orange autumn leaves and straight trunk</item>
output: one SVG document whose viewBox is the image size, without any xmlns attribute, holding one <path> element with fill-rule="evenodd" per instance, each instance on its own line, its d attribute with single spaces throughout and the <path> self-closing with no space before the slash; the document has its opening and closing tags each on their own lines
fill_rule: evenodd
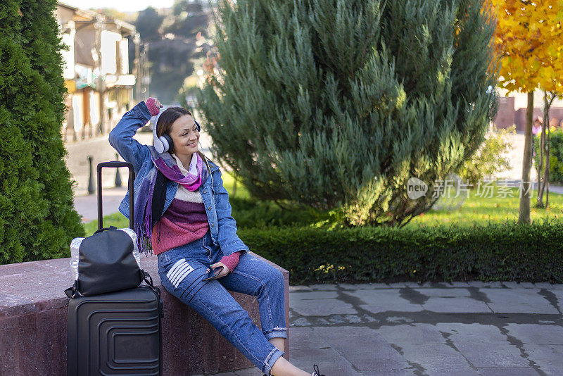
<svg viewBox="0 0 563 376">
<path fill-rule="evenodd" d="M 497 17 L 499 85 L 528 94 L 519 223 L 531 223 L 533 92 L 563 92 L 563 0 L 489 0 Z"/>
</svg>

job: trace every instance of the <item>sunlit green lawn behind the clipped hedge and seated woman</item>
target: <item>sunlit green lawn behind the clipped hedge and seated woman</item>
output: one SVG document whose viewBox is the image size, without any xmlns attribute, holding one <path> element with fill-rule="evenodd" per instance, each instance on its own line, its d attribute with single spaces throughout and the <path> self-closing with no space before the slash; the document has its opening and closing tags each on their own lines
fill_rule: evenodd
<svg viewBox="0 0 563 376">
<path fill-rule="evenodd" d="M 330 225 L 331 219 L 326 213 L 314 213 L 304 208 L 293 208 L 291 213 L 283 211 L 272 202 L 255 202 L 251 200 L 248 191 L 240 183 L 234 186 L 234 178 L 227 172 L 222 172 L 225 189 L 229 192 L 232 200 L 233 218 L 237 220 L 239 227 L 265 227 L 267 225 L 290 224 L 293 220 L 298 225 L 310 225 L 319 227 L 320 223 Z M 479 196 L 476 189 L 469 191 L 469 198 L 465 199 L 462 206 L 456 210 L 430 210 L 413 218 L 405 227 L 432 227 L 437 225 L 456 224 L 460 226 L 471 226 L 474 223 L 505 223 L 516 222 L 519 211 L 519 190 L 510 187 L 503 194 L 493 184 L 493 191 L 487 195 Z M 238 205 L 237 205 L 238 203 Z M 249 203 L 241 205 L 240 203 Z M 550 207 L 547 209 L 536 208 L 536 191 L 530 200 L 531 218 L 533 221 L 558 218 L 563 219 L 563 195 L 550 193 Z M 248 208 L 247 208 L 248 207 Z M 237 215 L 238 213 L 238 215 Z M 104 224 L 117 227 L 127 227 L 128 220 L 121 213 L 106 215 Z M 87 234 L 96 230 L 97 220 L 84 225 Z"/>
</svg>

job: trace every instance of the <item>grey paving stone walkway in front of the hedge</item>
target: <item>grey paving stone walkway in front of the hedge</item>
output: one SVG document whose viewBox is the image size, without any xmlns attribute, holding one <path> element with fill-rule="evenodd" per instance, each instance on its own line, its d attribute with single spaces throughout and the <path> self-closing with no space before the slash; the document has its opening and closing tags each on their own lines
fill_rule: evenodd
<svg viewBox="0 0 563 376">
<path fill-rule="evenodd" d="M 317 284 L 289 299 L 290 361 L 309 372 L 563 375 L 563 284 Z"/>
</svg>

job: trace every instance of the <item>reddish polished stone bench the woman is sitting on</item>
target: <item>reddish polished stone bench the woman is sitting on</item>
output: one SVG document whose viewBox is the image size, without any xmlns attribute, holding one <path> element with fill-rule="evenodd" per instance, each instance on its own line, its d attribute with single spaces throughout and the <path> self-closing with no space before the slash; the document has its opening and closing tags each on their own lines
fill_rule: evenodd
<svg viewBox="0 0 563 376">
<path fill-rule="evenodd" d="M 286 322 L 289 322 L 289 272 L 284 273 Z M 68 298 L 72 285 L 70 258 L 0 265 L 0 375 L 66 375 Z M 253 367 L 227 339 L 196 311 L 160 284 L 156 256 L 141 264 L 164 303 L 163 375 L 183 376 Z M 230 292 L 260 327 L 254 296 Z M 172 330 L 173 328 L 173 330 Z M 289 342 L 285 341 L 286 359 Z"/>
</svg>

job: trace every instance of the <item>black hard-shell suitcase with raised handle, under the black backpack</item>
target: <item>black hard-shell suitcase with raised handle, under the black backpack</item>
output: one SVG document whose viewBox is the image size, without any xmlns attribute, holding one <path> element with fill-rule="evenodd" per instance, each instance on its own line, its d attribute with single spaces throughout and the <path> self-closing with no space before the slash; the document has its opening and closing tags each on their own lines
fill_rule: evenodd
<svg viewBox="0 0 563 376">
<path fill-rule="evenodd" d="M 134 173 L 130 163 L 98 165 L 98 209 L 101 228 L 101 168 L 129 167 L 129 195 Z M 131 206 L 132 207 L 132 206 Z M 131 219 L 133 216 L 131 215 Z M 130 221 L 132 223 L 132 220 Z M 162 375 L 160 290 L 148 285 L 68 302 L 68 376 Z"/>
</svg>

